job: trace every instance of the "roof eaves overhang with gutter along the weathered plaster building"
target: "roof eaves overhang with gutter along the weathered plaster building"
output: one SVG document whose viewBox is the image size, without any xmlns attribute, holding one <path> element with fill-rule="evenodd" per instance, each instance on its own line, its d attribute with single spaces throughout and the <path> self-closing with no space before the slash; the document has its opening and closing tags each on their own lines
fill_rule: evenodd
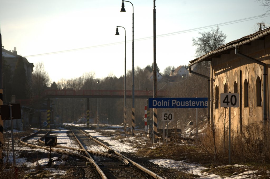
<svg viewBox="0 0 270 179">
<path fill-rule="evenodd" d="M 267 29 L 268 30 L 264 30 L 262 33 L 259 33 L 259 34 L 255 35 L 255 36 L 251 36 L 247 40 L 241 41 L 241 39 L 240 39 L 240 42 L 238 42 L 238 43 L 237 42 L 236 43 L 231 42 L 231 45 L 224 45 L 225 47 L 223 47 L 223 48 L 220 47 L 217 50 L 211 51 L 211 52 L 201 56 L 200 58 L 196 58 L 196 59 L 190 61 L 189 66 L 195 65 L 195 64 L 203 62 L 203 61 L 210 60 L 212 57 L 214 57 L 214 56 L 216 56 L 218 54 L 222 54 L 225 51 L 235 49 L 235 46 L 245 45 L 245 44 L 251 43 L 252 41 L 258 40 L 260 38 L 264 38 L 265 36 L 270 34 L 270 29 L 269 28 L 267 28 Z M 228 43 L 228 44 L 230 44 L 230 43 Z"/>
</svg>

